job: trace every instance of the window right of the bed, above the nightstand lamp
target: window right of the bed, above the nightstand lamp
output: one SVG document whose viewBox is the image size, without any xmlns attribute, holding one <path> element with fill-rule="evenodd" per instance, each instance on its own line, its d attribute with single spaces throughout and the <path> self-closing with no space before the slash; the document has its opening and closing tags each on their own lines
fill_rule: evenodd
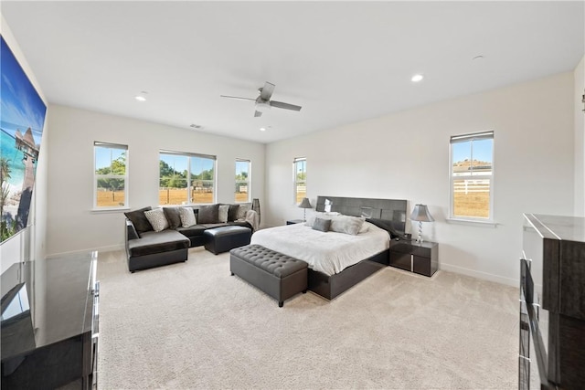
<svg viewBox="0 0 585 390">
<path fill-rule="evenodd" d="M 451 137 L 452 218 L 493 219 L 493 173 L 494 132 Z"/>
</svg>

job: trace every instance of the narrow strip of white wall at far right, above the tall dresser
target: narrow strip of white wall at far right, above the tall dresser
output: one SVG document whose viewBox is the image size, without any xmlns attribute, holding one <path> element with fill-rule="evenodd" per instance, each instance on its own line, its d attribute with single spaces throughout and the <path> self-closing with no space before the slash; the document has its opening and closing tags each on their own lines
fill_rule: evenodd
<svg viewBox="0 0 585 390">
<path fill-rule="evenodd" d="M 575 216 L 585 216 L 585 56 L 574 72 L 575 79 Z"/>
</svg>

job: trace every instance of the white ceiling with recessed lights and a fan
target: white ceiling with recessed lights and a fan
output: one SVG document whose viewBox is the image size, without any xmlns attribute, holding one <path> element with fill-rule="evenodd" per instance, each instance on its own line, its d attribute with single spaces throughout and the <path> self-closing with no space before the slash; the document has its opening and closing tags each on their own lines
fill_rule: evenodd
<svg viewBox="0 0 585 390">
<path fill-rule="evenodd" d="M 1 12 L 50 103 L 255 142 L 569 71 L 585 52 L 583 1 L 2 1 Z M 254 118 L 253 101 L 219 97 L 256 98 L 264 81 L 303 110 Z"/>
</svg>

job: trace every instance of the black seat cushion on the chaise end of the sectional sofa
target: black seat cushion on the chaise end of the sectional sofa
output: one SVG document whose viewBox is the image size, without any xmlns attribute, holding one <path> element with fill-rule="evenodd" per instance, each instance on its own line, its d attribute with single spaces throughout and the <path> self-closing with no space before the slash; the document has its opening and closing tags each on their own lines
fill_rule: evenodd
<svg viewBox="0 0 585 390">
<path fill-rule="evenodd" d="M 176 230 L 161 232 L 144 232 L 140 239 L 128 241 L 128 252 L 131 257 L 152 255 L 176 249 L 189 248 L 189 239 Z"/>
</svg>

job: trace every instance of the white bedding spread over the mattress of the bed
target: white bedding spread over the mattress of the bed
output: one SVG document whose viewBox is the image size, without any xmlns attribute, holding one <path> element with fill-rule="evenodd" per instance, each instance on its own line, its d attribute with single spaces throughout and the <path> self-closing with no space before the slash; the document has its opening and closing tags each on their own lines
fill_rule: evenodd
<svg viewBox="0 0 585 390">
<path fill-rule="evenodd" d="M 367 232 L 357 236 L 322 232 L 304 224 L 271 227 L 255 232 L 250 244 L 298 258 L 306 261 L 310 269 L 334 275 L 389 248 L 390 237 L 386 230 L 369 222 L 364 224 Z"/>
</svg>

